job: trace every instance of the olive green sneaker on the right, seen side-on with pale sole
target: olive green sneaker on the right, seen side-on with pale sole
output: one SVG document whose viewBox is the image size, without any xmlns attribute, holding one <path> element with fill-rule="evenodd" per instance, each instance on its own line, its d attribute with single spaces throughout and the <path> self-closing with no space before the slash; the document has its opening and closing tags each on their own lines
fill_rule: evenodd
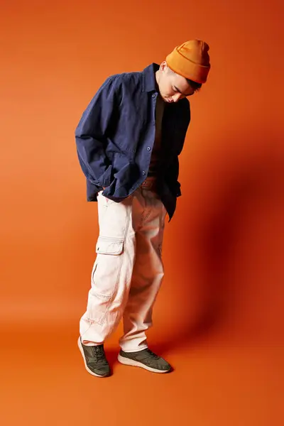
<svg viewBox="0 0 284 426">
<path fill-rule="evenodd" d="M 124 352 L 121 349 L 118 359 L 121 364 L 142 367 L 153 373 L 168 373 L 171 370 L 170 364 L 165 359 L 148 348 L 138 352 Z"/>
</svg>

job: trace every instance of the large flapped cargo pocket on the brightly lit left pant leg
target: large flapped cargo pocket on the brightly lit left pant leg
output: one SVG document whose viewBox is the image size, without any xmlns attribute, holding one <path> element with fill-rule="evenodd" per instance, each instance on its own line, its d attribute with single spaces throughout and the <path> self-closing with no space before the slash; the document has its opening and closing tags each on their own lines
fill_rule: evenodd
<svg viewBox="0 0 284 426">
<path fill-rule="evenodd" d="M 124 240 L 99 236 L 87 304 L 90 321 L 104 324 L 111 302 L 116 296 L 123 251 Z"/>
</svg>

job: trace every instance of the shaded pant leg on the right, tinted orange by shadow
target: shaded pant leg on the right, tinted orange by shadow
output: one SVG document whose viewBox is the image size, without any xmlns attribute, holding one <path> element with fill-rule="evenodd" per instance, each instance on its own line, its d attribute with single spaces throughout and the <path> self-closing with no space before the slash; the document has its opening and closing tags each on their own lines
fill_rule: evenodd
<svg viewBox="0 0 284 426">
<path fill-rule="evenodd" d="M 153 324 L 153 305 L 164 275 L 161 250 L 165 207 L 149 190 L 136 192 L 136 197 L 143 197 L 145 209 L 141 226 L 136 231 L 136 261 L 124 310 L 124 336 L 119 340 L 121 349 L 126 352 L 148 347 L 146 330 Z"/>
</svg>

